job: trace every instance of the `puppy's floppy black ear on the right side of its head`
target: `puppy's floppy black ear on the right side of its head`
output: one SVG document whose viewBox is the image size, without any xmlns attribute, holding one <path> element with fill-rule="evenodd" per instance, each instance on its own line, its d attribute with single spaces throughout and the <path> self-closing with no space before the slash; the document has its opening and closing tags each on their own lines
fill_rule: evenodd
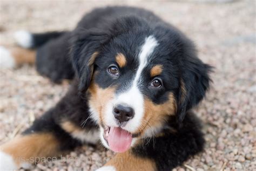
<svg viewBox="0 0 256 171">
<path fill-rule="evenodd" d="M 212 72 L 212 66 L 204 64 L 196 55 L 192 48 L 181 64 L 177 116 L 179 122 L 183 121 L 188 110 L 204 98 L 210 86 L 209 73 Z"/>
</svg>

